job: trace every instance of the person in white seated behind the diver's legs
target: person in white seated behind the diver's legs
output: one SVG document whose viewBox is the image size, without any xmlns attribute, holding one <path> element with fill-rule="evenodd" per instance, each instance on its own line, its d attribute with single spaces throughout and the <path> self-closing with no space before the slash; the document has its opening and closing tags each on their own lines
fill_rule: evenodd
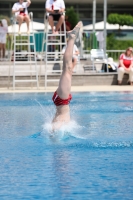
<svg viewBox="0 0 133 200">
<path fill-rule="evenodd" d="M 68 43 L 68 39 L 67 39 L 67 43 Z M 63 49 L 62 49 L 63 54 L 65 53 L 66 48 L 67 48 L 67 45 L 64 46 Z M 76 44 L 74 44 L 74 46 L 73 46 L 73 57 L 72 57 L 73 69 L 74 69 L 75 65 L 77 64 L 78 56 L 79 56 L 79 50 L 78 50 Z"/>
</svg>

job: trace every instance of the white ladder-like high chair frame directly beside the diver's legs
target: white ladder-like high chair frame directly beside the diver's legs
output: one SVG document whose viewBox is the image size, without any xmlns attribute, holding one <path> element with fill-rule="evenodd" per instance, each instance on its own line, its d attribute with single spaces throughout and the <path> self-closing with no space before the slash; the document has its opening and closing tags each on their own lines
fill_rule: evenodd
<svg viewBox="0 0 133 200">
<path fill-rule="evenodd" d="M 56 23 L 54 21 L 54 23 Z M 61 74 L 62 64 L 63 64 L 63 54 L 62 48 L 66 45 L 66 26 L 65 21 L 63 23 L 63 30 L 59 30 L 59 34 L 52 34 L 52 31 L 49 28 L 48 20 L 46 15 L 44 16 L 44 38 L 42 44 L 42 55 L 44 53 L 45 61 L 45 88 L 47 87 L 48 82 L 59 82 L 59 79 L 48 79 L 48 75 L 52 73 Z M 63 40 L 64 39 L 64 40 Z M 54 69 L 55 68 L 55 69 Z M 56 69 L 59 68 L 59 69 Z"/>
</svg>

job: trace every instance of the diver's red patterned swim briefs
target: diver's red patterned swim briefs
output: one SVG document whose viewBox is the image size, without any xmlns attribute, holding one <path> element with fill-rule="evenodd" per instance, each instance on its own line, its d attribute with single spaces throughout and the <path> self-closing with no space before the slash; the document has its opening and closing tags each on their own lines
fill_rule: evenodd
<svg viewBox="0 0 133 200">
<path fill-rule="evenodd" d="M 72 99 L 72 95 L 71 95 L 71 94 L 69 94 L 69 97 L 68 97 L 67 99 L 61 99 L 61 98 L 58 96 L 58 94 L 57 94 L 56 91 L 55 91 L 55 93 L 54 93 L 54 95 L 53 95 L 53 97 L 52 97 L 52 100 L 53 100 L 53 102 L 54 102 L 54 104 L 55 104 L 56 106 L 68 105 L 68 104 L 70 103 L 71 99 Z"/>
</svg>

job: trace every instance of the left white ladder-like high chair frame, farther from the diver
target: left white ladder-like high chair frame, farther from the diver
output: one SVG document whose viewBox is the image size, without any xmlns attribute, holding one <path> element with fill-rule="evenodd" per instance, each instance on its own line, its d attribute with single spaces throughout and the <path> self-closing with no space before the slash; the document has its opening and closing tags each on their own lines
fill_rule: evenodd
<svg viewBox="0 0 133 200">
<path fill-rule="evenodd" d="M 13 61 L 13 89 L 15 89 L 16 83 L 26 82 L 36 83 L 38 88 L 39 84 L 34 32 L 32 31 L 29 34 L 22 32 L 21 35 L 18 35 L 14 30 L 12 48 L 13 55 L 11 60 Z M 22 78 L 22 76 L 24 78 Z M 26 78 L 26 76 L 28 78 Z"/>
</svg>

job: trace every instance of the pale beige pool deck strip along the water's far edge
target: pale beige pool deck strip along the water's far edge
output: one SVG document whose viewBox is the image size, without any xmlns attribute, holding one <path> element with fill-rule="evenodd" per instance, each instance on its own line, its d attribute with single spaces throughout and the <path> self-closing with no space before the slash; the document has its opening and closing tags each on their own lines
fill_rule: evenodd
<svg viewBox="0 0 133 200">
<path fill-rule="evenodd" d="M 57 89 L 56 86 L 54 87 L 40 87 L 39 89 L 36 88 L 17 88 L 16 90 L 13 89 L 6 89 L 0 88 L 0 93 L 45 93 L 45 92 L 54 92 Z M 115 85 L 99 85 L 99 86 L 72 86 L 72 92 L 133 92 L 133 86 L 126 85 L 126 86 L 115 86 Z"/>
</svg>

